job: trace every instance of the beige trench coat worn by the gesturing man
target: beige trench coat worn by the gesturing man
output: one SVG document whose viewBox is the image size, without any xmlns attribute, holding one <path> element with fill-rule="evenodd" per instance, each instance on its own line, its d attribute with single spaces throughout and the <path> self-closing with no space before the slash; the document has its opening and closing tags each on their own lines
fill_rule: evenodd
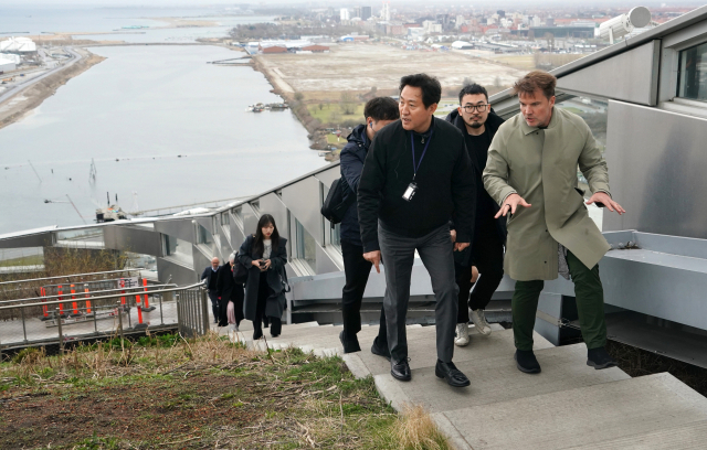
<svg viewBox="0 0 707 450">
<path fill-rule="evenodd" d="M 576 190 L 578 164 L 592 192 L 610 194 L 606 161 L 584 120 L 572 113 L 553 108 L 546 129 L 528 126 L 521 114 L 498 128 L 484 188 L 499 205 L 514 193 L 532 205 L 519 206 L 508 219 L 504 269 L 510 278 L 556 279 L 558 243 L 589 268 L 609 250 Z"/>
</svg>

